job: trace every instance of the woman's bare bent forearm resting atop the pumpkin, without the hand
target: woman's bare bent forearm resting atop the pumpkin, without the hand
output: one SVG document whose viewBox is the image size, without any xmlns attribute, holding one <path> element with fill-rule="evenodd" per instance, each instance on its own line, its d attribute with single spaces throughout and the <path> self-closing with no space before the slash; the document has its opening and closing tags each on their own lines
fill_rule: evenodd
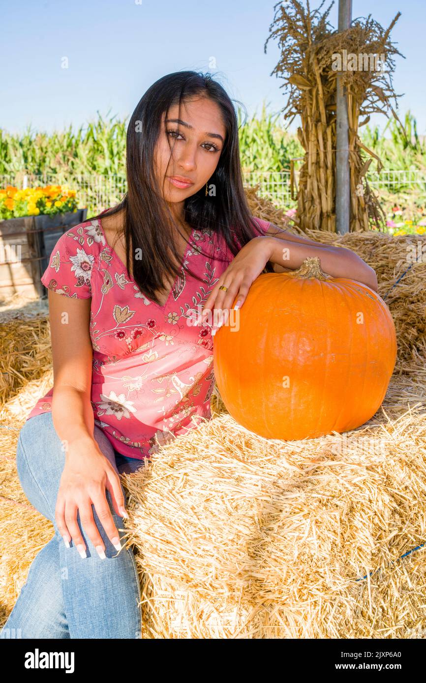
<svg viewBox="0 0 426 683">
<path fill-rule="evenodd" d="M 306 257 L 317 256 L 321 268 L 328 275 L 356 280 L 377 292 L 375 270 L 350 249 L 322 245 L 320 242 L 314 242 L 280 230 L 278 226 L 272 223 L 267 229 L 267 234 L 255 239 L 269 240 L 269 261 L 277 268 L 296 270 L 302 265 Z M 275 267 L 274 270 L 276 270 Z"/>
</svg>

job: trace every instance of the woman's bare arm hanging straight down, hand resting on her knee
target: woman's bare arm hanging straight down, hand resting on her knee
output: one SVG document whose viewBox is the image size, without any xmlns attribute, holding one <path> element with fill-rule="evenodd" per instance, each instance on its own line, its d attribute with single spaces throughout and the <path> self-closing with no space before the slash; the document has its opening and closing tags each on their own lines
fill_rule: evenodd
<svg viewBox="0 0 426 683">
<path fill-rule="evenodd" d="M 120 477 L 94 438 L 92 391 L 93 349 L 90 339 L 90 298 L 72 298 L 49 290 L 53 356 L 52 419 L 63 442 L 65 464 L 55 506 L 57 528 L 64 541 L 72 539 L 81 557 L 85 541 L 81 524 L 100 557 L 105 544 L 94 522 L 92 505 L 109 540 L 120 550 L 120 535 L 105 490 L 116 513 L 125 514 Z"/>
</svg>

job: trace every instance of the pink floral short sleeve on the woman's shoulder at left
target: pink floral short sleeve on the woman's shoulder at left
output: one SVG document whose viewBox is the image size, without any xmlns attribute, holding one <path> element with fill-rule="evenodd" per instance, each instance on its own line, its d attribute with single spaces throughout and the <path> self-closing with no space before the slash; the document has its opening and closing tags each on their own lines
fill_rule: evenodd
<svg viewBox="0 0 426 683">
<path fill-rule="evenodd" d="M 49 266 L 40 281 L 44 287 L 72 298 L 92 296 L 91 277 L 94 255 L 85 243 L 80 243 L 72 230 L 57 240 L 49 259 Z"/>
</svg>

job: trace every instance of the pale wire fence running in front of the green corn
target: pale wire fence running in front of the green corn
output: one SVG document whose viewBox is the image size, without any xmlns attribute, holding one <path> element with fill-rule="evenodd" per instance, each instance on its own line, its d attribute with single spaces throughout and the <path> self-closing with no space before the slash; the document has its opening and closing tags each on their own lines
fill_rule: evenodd
<svg viewBox="0 0 426 683">
<path fill-rule="evenodd" d="M 295 171 L 295 189 L 298 185 L 298 171 Z M 367 173 L 369 185 L 378 191 L 400 193 L 403 191 L 416 191 L 426 201 L 426 173 L 424 171 L 394 171 L 386 170 L 377 173 Z M 43 173 L 38 175 L 25 175 L 23 173 L 10 173 L 0 176 L 0 188 L 13 185 L 18 189 L 35 187 L 37 185 L 62 185 L 67 184 L 78 193 L 79 206 L 88 208 L 88 216 L 97 214 L 103 209 L 114 206 L 122 199 L 127 191 L 125 176 L 100 176 L 73 175 L 68 173 Z M 291 176 L 290 171 L 248 171 L 243 173 L 245 186 L 259 185 L 258 195 L 274 201 L 274 204 L 282 208 L 293 208 L 295 199 L 291 199 Z"/>
</svg>

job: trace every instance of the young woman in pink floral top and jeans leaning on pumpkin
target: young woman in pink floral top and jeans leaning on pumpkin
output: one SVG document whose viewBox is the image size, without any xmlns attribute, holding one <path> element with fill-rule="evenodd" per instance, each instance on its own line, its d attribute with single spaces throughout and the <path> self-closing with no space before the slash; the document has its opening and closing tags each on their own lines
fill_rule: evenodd
<svg viewBox="0 0 426 683">
<path fill-rule="evenodd" d="M 120 473 L 211 417 L 212 312 L 242 306 L 258 275 L 307 256 L 377 290 L 355 253 L 250 215 L 237 117 L 210 75 L 176 72 L 147 90 L 127 131 L 127 182 L 120 204 L 59 238 L 42 276 L 54 391 L 31 410 L 16 458 L 55 535 L 2 637 L 140 637 L 137 568 L 120 544 Z"/>
</svg>

